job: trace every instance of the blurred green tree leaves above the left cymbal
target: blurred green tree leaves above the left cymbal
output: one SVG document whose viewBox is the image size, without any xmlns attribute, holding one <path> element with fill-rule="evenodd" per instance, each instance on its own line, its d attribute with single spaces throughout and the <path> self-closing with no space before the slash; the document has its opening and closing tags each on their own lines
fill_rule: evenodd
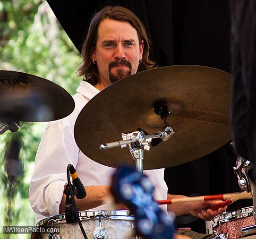
<svg viewBox="0 0 256 239">
<path fill-rule="evenodd" d="M 10 2 L 19 4 L 11 5 Z M 0 2 L 0 15 L 6 15 L 3 14 L 5 11 L 8 13 L 0 27 L 3 32 L 0 35 L 0 67 L 39 75 L 74 93 L 78 84 L 75 70 L 80 63 L 80 55 L 48 4 L 42 2 L 37 5 L 36 2 L 40 1 Z"/>
</svg>

